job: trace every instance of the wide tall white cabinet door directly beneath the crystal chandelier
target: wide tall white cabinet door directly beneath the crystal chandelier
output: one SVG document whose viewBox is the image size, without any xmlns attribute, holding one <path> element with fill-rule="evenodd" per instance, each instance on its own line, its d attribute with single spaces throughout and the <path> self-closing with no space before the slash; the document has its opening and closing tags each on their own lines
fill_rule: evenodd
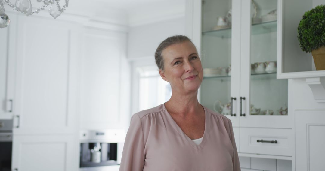
<svg viewBox="0 0 325 171">
<path fill-rule="evenodd" d="M 18 24 L 14 134 L 73 133 L 77 123 L 76 25 L 25 16 L 14 22 Z"/>
</svg>

